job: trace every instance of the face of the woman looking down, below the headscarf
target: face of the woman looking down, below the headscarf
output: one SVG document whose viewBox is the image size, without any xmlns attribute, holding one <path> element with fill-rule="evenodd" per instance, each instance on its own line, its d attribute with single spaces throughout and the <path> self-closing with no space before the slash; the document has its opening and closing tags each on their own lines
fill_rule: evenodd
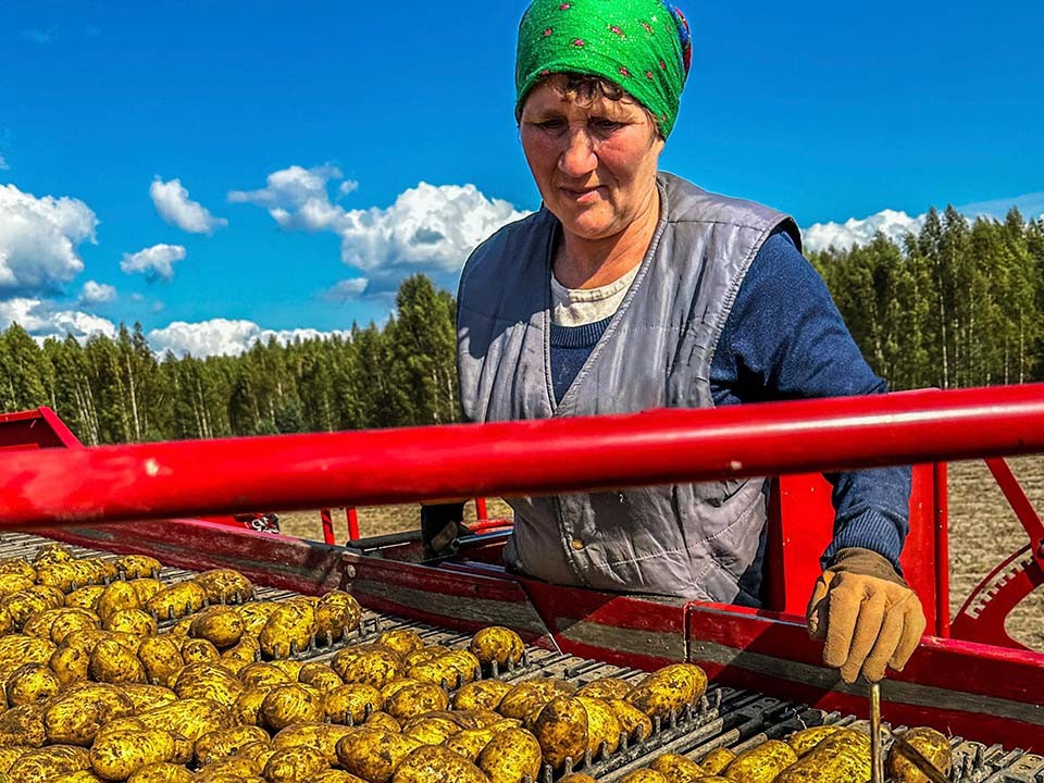
<svg viewBox="0 0 1044 783">
<path fill-rule="evenodd" d="M 606 239 L 656 208 L 663 139 L 638 103 L 596 94 L 577 105 L 544 83 L 525 99 L 520 125 L 544 203 L 567 232 Z"/>
</svg>

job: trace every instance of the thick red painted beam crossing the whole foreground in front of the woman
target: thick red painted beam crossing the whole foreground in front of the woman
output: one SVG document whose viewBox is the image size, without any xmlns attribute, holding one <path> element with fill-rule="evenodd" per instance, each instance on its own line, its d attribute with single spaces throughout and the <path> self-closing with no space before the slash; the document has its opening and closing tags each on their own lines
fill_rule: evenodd
<svg viewBox="0 0 1044 783">
<path fill-rule="evenodd" d="M 670 484 L 1044 451 L 1044 384 L 11 452 L 0 527 Z"/>
</svg>

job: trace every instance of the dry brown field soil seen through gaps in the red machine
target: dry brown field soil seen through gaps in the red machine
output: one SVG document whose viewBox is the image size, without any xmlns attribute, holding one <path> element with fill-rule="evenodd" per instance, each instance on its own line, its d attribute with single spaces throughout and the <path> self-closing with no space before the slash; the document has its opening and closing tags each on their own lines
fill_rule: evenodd
<svg viewBox="0 0 1044 783">
<path fill-rule="evenodd" d="M 1012 471 L 1033 505 L 1044 512 L 1044 457 L 1009 460 Z M 980 461 L 949 465 L 949 573 L 950 616 L 972 588 L 1004 558 L 1027 543 L 1019 524 L 990 473 Z M 474 519 L 474 505 L 468 505 Z M 510 517 L 504 501 L 488 501 L 489 517 Z M 323 539 L 318 511 L 279 514 L 283 532 L 302 538 Z M 344 511 L 334 517 L 338 539 L 347 536 Z M 365 536 L 417 529 L 419 506 L 380 506 L 359 509 L 359 532 Z M 1044 651 L 1044 591 L 1037 589 L 1008 618 L 1008 632 L 1018 641 Z"/>
</svg>

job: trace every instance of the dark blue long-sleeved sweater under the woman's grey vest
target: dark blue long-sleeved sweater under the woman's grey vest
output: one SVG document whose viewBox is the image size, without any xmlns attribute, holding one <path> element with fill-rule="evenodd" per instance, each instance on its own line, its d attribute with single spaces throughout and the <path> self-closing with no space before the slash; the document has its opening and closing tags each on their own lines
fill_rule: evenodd
<svg viewBox="0 0 1044 783">
<path fill-rule="evenodd" d="M 611 319 L 551 326 L 551 373 L 561 399 Z M 881 394 L 884 381 L 862 358 L 826 285 L 785 232 L 755 257 L 710 366 L 714 405 Z M 909 529 L 910 469 L 828 474 L 834 538 L 826 564 L 845 547 L 880 552 L 898 568 Z"/>
</svg>

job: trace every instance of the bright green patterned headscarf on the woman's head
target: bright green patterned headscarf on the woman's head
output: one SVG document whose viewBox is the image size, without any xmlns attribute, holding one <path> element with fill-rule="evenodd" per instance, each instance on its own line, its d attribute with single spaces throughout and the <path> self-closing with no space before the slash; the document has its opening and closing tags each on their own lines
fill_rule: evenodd
<svg viewBox="0 0 1044 783">
<path fill-rule="evenodd" d="M 515 116 L 555 73 L 601 76 L 657 119 L 667 138 L 689 62 L 688 25 L 663 0 L 533 0 L 519 26 Z"/>
</svg>

